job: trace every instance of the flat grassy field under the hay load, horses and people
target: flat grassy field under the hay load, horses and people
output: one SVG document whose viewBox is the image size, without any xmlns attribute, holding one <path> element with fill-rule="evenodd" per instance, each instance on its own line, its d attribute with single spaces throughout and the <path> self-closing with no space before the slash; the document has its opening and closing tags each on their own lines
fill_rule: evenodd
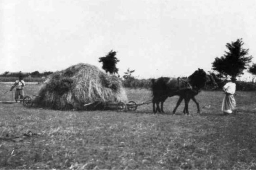
<svg viewBox="0 0 256 170">
<path fill-rule="evenodd" d="M 26 86 L 27 95 L 40 85 Z M 10 89 L 1 85 L 0 95 Z M 129 100 L 151 98 L 146 89 L 127 89 Z M 10 100 L 12 92 L 0 100 Z M 0 139 L 0 169 L 256 169 L 256 92 L 238 91 L 238 113 L 223 116 L 221 91 L 202 91 L 193 116 L 171 116 L 177 97 L 153 115 L 152 105 L 134 112 L 54 111 L 0 104 L 0 136 L 36 133 L 19 142 Z M 210 105 L 210 107 L 208 107 Z M 207 107 L 204 107 L 207 106 Z"/>
</svg>

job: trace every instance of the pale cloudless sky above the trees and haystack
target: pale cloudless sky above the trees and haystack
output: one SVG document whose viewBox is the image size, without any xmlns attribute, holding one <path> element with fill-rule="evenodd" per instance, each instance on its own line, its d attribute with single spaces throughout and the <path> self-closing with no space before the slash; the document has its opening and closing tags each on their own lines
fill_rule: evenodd
<svg viewBox="0 0 256 170">
<path fill-rule="evenodd" d="M 238 38 L 256 63 L 255 8 L 254 0 L 0 0 L 0 73 L 101 68 L 99 57 L 114 50 L 121 76 L 128 68 L 137 78 L 188 76 L 211 71 Z"/>
</svg>

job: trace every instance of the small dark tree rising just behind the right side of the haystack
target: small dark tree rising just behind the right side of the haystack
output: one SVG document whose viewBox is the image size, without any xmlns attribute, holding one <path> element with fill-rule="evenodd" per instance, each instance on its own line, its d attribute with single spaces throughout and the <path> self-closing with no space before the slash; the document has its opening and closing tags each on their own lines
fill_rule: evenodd
<svg viewBox="0 0 256 170">
<path fill-rule="evenodd" d="M 99 58 L 99 62 L 102 62 L 102 69 L 105 70 L 106 73 L 118 73 L 116 64 L 119 62 L 119 60 L 115 57 L 115 55 L 116 52 L 111 50 L 106 56 Z"/>
</svg>

